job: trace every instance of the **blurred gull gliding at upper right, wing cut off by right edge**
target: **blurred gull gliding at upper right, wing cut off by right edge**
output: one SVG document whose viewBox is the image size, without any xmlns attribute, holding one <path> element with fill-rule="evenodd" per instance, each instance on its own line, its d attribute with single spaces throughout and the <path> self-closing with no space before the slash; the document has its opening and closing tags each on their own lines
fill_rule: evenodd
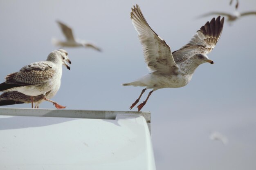
<svg viewBox="0 0 256 170">
<path fill-rule="evenodd" d="M 243 16 L 247 16 L 247 15 L 256 15 L 256 11 L 248 11 L 248 12 L 243 12 L 243 13 L 239 13 L 238 11 L 234 11 L 234 13 L 225 13 L 225 12 L 209 12 L 209 13 L 205 13 L 201 16 L 199 16 L 199 18 L 201 17 L 207 17 L 210 15 L 221 15 L 221 16 L 226 16 L 227 20 L 229 22 L 233 22 Z"/>
</svg>

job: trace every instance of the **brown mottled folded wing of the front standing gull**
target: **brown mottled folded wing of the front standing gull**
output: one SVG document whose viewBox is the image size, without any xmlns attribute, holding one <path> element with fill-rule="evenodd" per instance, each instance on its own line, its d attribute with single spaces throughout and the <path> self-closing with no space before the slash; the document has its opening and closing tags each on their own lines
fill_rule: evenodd
<svg viewBox="0 0 256 170">
<path fill-rule="evenodd" d="M 20 84 L 24 86 L 38 86 L 55 73 L 52 65 L 48 62 L 35 62 L 24 66 L 20 71 L 11 73 L 5 77 L 5 83 Z"/>
</svg>

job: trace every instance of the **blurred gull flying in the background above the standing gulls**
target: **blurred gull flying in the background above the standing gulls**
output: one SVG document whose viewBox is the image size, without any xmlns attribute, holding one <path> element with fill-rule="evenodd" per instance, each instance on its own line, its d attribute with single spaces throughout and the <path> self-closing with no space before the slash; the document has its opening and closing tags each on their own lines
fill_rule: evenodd
<svg viewBox="0 0 256 170">
<path fill-rule="evenodd" d="M 60 26 L 61 31 L 66 38 L 66 41 L 60 41 L 60 40 L 56 40 L 55 38 L 53 38 L 52 43 L 55 46 L 63 46 L 63 47 L 81 47 L 81 46 L 83 46 L 85 48 L 92 48 L 97 51 L 101 51 L 101 49 L 98 46 L 96 46 L 90 42 L 87 42 L 85 40 L 75 40 L 74 35 L 72 33 L 72 29 L 70 27 L 68 27 L 67 25 L 63 24 L 60 21 L 56 21 L 56 22 Z"/>
</svg>

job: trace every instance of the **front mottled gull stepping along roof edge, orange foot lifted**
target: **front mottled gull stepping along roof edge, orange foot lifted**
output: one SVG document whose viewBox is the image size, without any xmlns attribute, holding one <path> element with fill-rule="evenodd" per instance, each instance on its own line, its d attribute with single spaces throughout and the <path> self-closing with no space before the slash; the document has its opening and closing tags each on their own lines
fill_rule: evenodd
<svg viewBox="0 0 256 170">
<path fill-rule="evenodd" d="M 62 65 L 70 70 L 70 66 L 65 61 L 71 64 L 67 51 L 62 49 L 53 51 L 46 61 L 31 63 L 22 67 L 20 71 L 7 75 L 5 82 L 0 84 L 0 91 L 18 91 L 30 96 L 32 108 L 34 96 L 38 95 L 43 95 L 43 99 L 52 102 L 56 108 L 65 108 L 46 97 L 47 92 L 60 86 Z"/>
</svg>

